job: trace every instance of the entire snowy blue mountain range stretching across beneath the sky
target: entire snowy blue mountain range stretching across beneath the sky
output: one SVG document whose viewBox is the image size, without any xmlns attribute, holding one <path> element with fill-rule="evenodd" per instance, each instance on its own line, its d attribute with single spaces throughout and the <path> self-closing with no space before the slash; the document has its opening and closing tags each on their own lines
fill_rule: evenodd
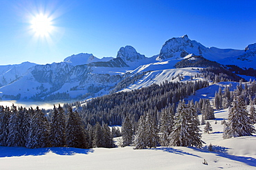
<svg viewBox="0 0 256 170">
<path fill-rule="evenodd" d="M 256 43 L 245 50 L 219 49 L 205 47 L 185 35 L 166 41 L 160 53 L 151 57 L 127 45 L 120 48 L 116 58 L 98 59 L 93 54 L 81 53 L 68 56 L 61 63 L 2 65 L 0 97 L 3 100 L 83 100 L 109 94 L 117 86 L 122 87 L 120 90 L 131 90 L 175 81 L 178 74 L 198 73 L 182 67 L 236 65 L 246 70 L 256 69 L 255 63 Z M 127 79 L 133 81 L 124 81 Z"/>
</svg>

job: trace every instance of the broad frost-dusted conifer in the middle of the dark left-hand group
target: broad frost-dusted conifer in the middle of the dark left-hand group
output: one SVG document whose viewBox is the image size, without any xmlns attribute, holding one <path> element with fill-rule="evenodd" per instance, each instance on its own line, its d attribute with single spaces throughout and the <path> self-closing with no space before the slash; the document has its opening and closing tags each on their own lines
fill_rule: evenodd
<svg viewBox="0 0 256 170">
<path fill-rule="evenodd" d="M 35 110 L 31 108 L 30 114 L 30 130 L 26 147 L 30 149 L 48 147 L 49 124 L 46 116 L 39 107 Z"/>
</svg>

